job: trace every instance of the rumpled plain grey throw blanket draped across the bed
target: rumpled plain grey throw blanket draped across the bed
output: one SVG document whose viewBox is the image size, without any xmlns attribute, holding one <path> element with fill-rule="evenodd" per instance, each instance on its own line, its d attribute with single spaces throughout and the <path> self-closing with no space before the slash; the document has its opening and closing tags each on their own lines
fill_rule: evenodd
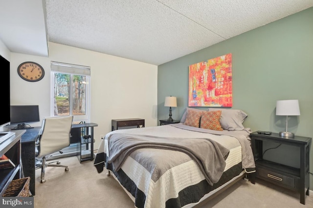
<svg viewBox="0 0 313 208">
<path fill-rule="evenodd" d="M 181 151 L 188 154 L 202 170 L 210 185 L 218 182 L 225 168 L 229 150 L 208 138 L 165 138 L 149 135 L 113 133 L 108 138 L 109 158 L 118 171 L 127 156 L 140 148 Z"/>
</svg>

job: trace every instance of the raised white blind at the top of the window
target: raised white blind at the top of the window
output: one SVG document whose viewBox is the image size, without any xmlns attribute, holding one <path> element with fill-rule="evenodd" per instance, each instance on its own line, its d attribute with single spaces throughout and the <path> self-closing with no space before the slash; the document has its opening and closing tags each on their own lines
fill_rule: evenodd
<svg viewBox="0 0 313 208">
<path fill-rule="evenodd" d="M 67 73 L 72 75 L 90 76 L 89 66 L 80 66 L 69 63 L 51 61 L 51 71 L 56 73 Z"/>
</svg>

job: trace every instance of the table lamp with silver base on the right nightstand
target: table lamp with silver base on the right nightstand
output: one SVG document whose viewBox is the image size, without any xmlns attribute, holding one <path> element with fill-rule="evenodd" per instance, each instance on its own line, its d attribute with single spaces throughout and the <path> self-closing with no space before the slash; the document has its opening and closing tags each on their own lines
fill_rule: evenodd
<svg viewBox="0 0 313 208">
<path fill-rule="evenodd" d="M 276 115 L 286 115 L 286 132 L 279 132 L 280 136 L 294 137 L 294 134 L 288 132 L 288 115 L 300 115 L 298 100 L 277 100 Z"/>
</svg>

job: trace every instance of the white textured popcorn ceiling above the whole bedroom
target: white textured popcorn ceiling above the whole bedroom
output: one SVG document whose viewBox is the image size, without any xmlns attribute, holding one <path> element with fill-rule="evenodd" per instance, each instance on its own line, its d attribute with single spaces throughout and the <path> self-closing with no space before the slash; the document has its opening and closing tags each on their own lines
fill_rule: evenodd
<svg viewBox="0 0 313 208">
<path fill-rule="evenodd" d="M 313 0 L 2 0 L 3 6 L 0 38 L 12 52 L 44 56 L 46 42 L 35 48 L 42 54 L 19 45 L 48 35 L 51 42 L 159 65 L 312 7 Z"/>
</svg>

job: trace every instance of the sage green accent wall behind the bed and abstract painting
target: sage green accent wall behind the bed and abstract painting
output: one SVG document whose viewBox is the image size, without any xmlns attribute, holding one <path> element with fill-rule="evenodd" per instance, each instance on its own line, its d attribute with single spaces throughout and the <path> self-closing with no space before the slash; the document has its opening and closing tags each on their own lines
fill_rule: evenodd
<svg viewBox="0 0 313 208">
<path fill-rule="evenodd" d="M 172 117 L 180 120 L 188 105 L 189 65 L 228 53 L 232 53 L 232 109 L 248 114 L 245 127 L 252 131 L 285 131 L 286 117 L 275 115 L 276 101 L 298 99 L 301 115 L 290 116 L 288 131 L 313 137 L 313 7 L 159 65 L 158 120 L 168 118 L 169 108 L 164 107 L 164 99 L 170 95 L 177 97 L 178 105 L 172 108 Z M 265 150 L 277 144 L 264 146 Z M 276 151 L 267 151 L 265 158 L 298 167 L 298 151 L 281 146 Z"/>
</svg>

